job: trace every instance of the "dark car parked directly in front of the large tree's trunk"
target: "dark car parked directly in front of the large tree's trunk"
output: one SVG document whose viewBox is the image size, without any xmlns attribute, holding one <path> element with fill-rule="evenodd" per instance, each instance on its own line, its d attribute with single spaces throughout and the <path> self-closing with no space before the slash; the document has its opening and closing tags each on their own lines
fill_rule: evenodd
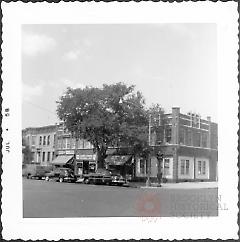
<svg viewBox="0 0 240 242">
<path fill-rule="evenodd" d="M 83 175 L 83 183 L 85 184 L 106 184 L 112 182 L 111 173 L 106 169 L 98 169 L 96 172 Z"/>
</svg>

